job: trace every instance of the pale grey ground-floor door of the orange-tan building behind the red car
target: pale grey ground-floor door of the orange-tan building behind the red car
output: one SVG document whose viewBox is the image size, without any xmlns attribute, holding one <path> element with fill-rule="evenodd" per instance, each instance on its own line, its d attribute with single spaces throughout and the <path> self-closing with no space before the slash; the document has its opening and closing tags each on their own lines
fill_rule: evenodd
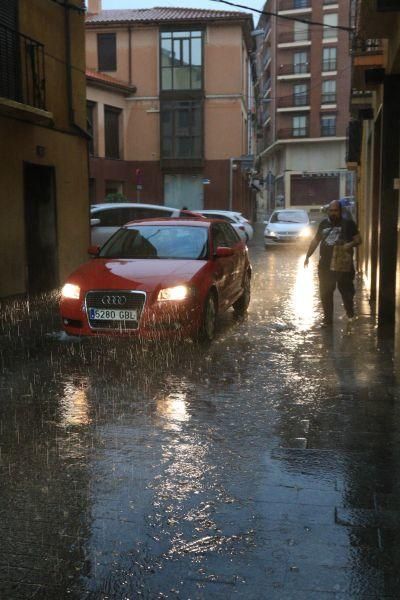
<svg viewBox="0 0 400 600">
<path fill-rule="evenodd" d="M 174 208 L 204 208 L 202 175 L 164 175 L 164 204 Z"/>
</svg>

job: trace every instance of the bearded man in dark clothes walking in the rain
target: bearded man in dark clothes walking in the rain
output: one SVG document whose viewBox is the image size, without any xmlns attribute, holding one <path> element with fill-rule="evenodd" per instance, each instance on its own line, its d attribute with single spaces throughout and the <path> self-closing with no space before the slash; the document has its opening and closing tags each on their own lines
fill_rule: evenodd
<svg viewBox="0 0 400 600">
<path fill-rule="evenodd" d="M 315 237 L 311 240 L 304 261 L 305 267 L 308 267 L 308 260 L 319 244 L 321 244 L 318 263 L 319 293 L 324 311 L 323 326 L 329 327 L 333 321 L 333 292 L 336 285 L 342 296 L 347 317 L 349 319 L 354 317 L 353 248 L 361 244 L 357 225 L 352 219 L 342 217 L 339 200 L 333 200 L 329 204 L 328 219 L 321 221 Z M 344 258 L 348 259 L 348 265 L 345 267 L 339 265 L 337 260 L 339 252 L 334 250 L 335 246 L 341 246 L 342 255 L 344 253 Z"/>
</svg>

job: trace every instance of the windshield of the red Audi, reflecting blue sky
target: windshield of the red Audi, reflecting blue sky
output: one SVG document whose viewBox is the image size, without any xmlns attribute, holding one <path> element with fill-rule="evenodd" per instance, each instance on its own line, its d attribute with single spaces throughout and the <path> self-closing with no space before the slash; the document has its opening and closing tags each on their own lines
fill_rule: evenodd
<svg viewBox="0 0 400 600">
<path fill-rule="evenodd" d="M 99 257 L 205 259 L 207 240 L 205 227 L 136 225 L 119 229 Z"/>
</svg>

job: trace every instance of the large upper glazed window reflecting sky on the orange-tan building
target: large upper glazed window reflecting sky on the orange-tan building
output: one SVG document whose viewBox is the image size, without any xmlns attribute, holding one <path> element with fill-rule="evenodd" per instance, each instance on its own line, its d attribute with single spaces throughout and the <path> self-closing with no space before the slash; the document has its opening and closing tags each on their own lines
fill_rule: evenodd
<svg viewBox="0 0 400 600">
<path fill-rule="evenodd" d="M 200 90 L 203 79 L 201 31 L 161 32 L 161 89 Z"/>
</svg>

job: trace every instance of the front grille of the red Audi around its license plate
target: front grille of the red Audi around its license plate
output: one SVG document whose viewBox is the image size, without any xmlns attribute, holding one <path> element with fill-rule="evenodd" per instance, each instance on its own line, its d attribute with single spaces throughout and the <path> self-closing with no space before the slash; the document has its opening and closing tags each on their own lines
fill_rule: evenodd
<svg viewBox="0 0 400 600">
<path fill-rule="evenodd" d="M 87 292 L 86 312 L 89 325 L 92 329 L 131 330 L 138 329 L 140 316 L 146 302 L 145 292 L 126 290 L 102 290 Z M 90 309 L 101 309 L 103 311 L 132 311 L 137 312 L 136 320 L 124 319 L 96 319 L 90 313 Z"/>
</svg>

